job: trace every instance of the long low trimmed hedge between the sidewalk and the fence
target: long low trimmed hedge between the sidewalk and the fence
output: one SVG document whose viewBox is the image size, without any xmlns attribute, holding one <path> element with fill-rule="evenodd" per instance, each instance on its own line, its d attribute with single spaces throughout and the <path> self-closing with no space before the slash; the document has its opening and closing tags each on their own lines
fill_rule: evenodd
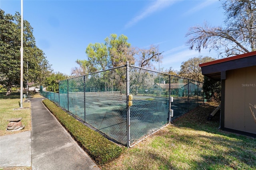
<svg viewBox="0 0 256 170">
<path fill-rule="evenodd" d="M 114 144 L 98 132 L 86 127 L 52 101 L 44 99 L 43 103 L 97 164 L 106 164 L 118 158 L 124 151 L 125 147 Z"/>
</svg>

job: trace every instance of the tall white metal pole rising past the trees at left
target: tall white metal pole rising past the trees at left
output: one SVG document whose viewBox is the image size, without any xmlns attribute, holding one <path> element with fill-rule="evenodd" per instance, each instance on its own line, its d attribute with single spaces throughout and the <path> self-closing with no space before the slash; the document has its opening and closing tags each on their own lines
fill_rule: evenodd
<svg viewBox="0 0 256 170">
<path fill-rule="evenodd" d="M 23 0 L 21 0 L 20 108 L 23 108 Z"/>
</svg>

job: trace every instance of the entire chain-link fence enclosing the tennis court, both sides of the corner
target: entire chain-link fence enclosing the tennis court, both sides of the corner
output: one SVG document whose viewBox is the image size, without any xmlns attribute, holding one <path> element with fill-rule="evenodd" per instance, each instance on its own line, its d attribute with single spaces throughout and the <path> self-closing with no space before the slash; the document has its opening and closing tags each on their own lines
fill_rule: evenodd
<svg viewBox="0 0 256 170">
<path fill-rule="evenodd" d="M 60 81 L 59 93 L 41 95 L 128 146 L 168 125 L 170 109 L 175 119 L 204 102 L 202 83 L 128 63 Z"/>
</svg>

